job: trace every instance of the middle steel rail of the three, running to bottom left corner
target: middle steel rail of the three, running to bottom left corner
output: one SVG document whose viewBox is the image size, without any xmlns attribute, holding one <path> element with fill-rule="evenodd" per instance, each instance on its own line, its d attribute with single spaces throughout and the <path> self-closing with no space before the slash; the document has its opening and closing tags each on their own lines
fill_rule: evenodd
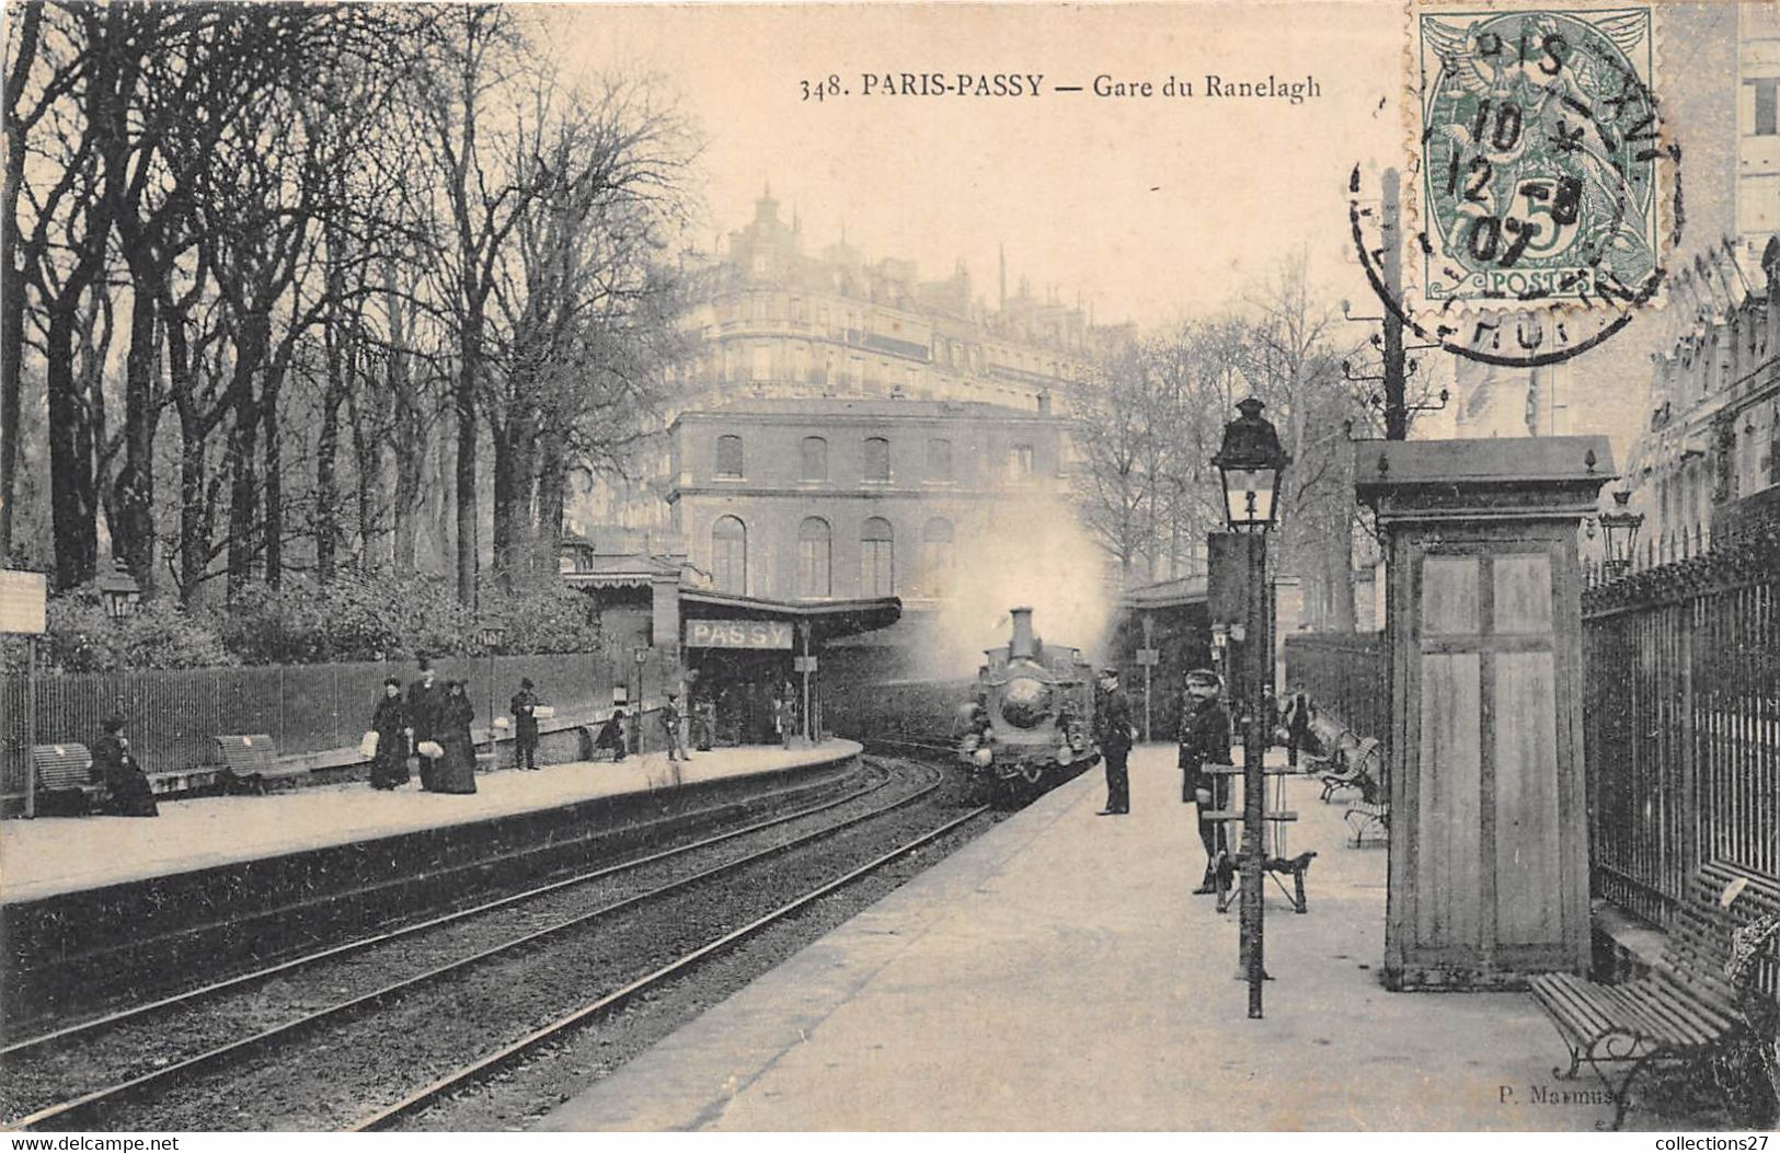
<svg viewBox="0 0 1780 1153">
<path fill-rule="evenodd" d="M 687 888 L 691 888 L 691 886 L 694 886 L 694 884 L 698 884 L 701 881 L 708 881 L 708 879 L 723 875 L 726 872 L 733 872 L 737 868 L 744 868 L 748 865 L 755 865 L 758 861 L 764 861 L 767 858 L 778 856 L 781 852 L 789 852 L 792 849 L 797 849 L 797 847 L 806 845 L 810 842 L 821 840 L 821 838 L 829 836 L 833 833 L 838 833 L 842 829 L 847 829 L 847 827 L 853 827 L 856 824 L 863 824 L 867 820 L 881 817 L 885 813 L 895 811 L 895 810 L 899 810 L 902 806 L 913 804 L 915 801 L 920 801 L 922 797 L 927 797 L 929 794 L 933 794 L 934 790 L 938 790 L 942 783 L 943 783 L 943 774 L 934 772 L 933 781 L 929 785 L 926 785 L 924 788 L 920 788 L 918 792 L 913 792 L 908 797 L 901 797 L 897 801 L 892 801 L 890 804 L 878 806 L 878 808 L 874 808 L 874 810 L 870 810 L 867 813 L 862 813 L 858 817 L 849 817 L 846 820 L 835 822 L 835 824 L 826 826 L 822 829 L 815 829 L 813 833 L 805 833 L 803 836 L 794 836 L 789 842 L 781 842 L 778 845 L 773 845 L 773 847 L 764 849 L 760 852 L 753 852 L 753 854 L 737 858 L 733 861 L 724 861 L 723 865 L 716 865 L 712 868 L 705 868 L 705 870 L 691 874 L 687 877 L 680 877 L 678 881 L 671 881 L 671 883 L 668 883 L 668 884 L 664 884 L 660 888 L 653 888 L 653 890 L 648 890 L 648 891 L 643 891 L 643 893 L 635 893 L 632 897 L 625 897 L 623 900 L 612 902 L 609 906 L 602 906 L 598 909 L 591 909 L 587 913 L 578 913 L 578 915 L 575 915 L 575 916 L 571 916 L 568 920 L 555 922 L 554 925 L 546 925 L 543 929 L 536 929 L 532 932 L 525 932 L 525 934 L 522 934 L 518 938 L 513 938 L 513 939 L 509 939 L 509 941 L 506 941 L 502 945 L 493 945 L 493 947 L 484 948 L 481 952 L 470 954 L 468 957 L 459 957 L 457 961 L 449 961 L 449 963 L 440 964 L 436 968 L 431 968 L 431 970 L 427 970 L 424 973 L 417 973 L 413 977 L 406 977 L 402 980 L 388 984 L 388 986 L 384 986 L 381 989 L 374 989 L 370 993 L 363 993 L 363 995 L 349 998 L 345 1002 L 338 1002 L 335 1005 L 329 1005 L 328 1009 L 319 1009 L 319 1011 L 304 1014 L 301 1018 L 294 1018 L 290 1021 L 285 1021 L 283 1025 L 274 1025 L 274 1027 L 265 1028 L 262 1032 L 256 1032 L 253 1036 L 240 1037 L 237 1041 L 230 1041 L 228 1044 L 221 1044 L 221 1046 L 217 1046 L 214 1050 L 206 1050 L 203 1053 L 196 1053 L 192 1057 L 187 1057 L 183 1060 L 176 1060 L 176 1062 L 162 1066 L 158 1069 L 151 1069 L 148 1073 L 141 1073 L 137 1076 L 132 1076 L 130 1080 L 117 1082 L 117 1084 L 107 1085 L 103 1089 L 94 1089 L 91 1093 L 84 1093 L 84 1094 L 80 1094 L 77 1098 L 71 1098 L 68 1101 L 59 1101 L 55 1105 L 46 1105 L 46 1107 L 43 1107 L 43 1109 L 39 1109 L 36 1112 L 30 1112 L 30 1114 L 27 1114 L 23 1117 L 18 1117 L 14 1121 L 7 1121 L 4 1126 L 0 1126 L 0 1132 L 20 1132 L 20 1130 L 27 1130 L 27 1128 L 32 1128 L 36 1125 L 41 1125 L 44 1121 L 52 1121 L 52 1119 L 57 1119 L 57 1117 L 68 1117 L 68 1116 L 73 1116 L 73 1114 L 82 1114 L 85 1110 L 91 1110 L 96 1105 L 105 1105 L 105 1103 L 114 1103 L 114 1101 L 128 1100 L 128 1098 L 135 1096 L 137 1093 L 141 1093 L 142 1089 L 148 1089 L 151 1085 L 158 1085 L 160 1082 L 167 1082 L 167 1080 L 176 1078 L 176 1076 L 185 1076 L 185 1075 L 190 1075 L 190 1073 L 198 1073 L 201 1069 L 206 1069 L 206 1068 L 210 1068 L 214 1064 L 219 1064 L 222 1060 L 228 1060 L 228 1059 L 239 1059 L 242 1055 L 247 1055 L 247 1053 L 251 1053 L 255 1050 L 263 1048 L 265 1044 L 269 1044 L 272 1041 L 281 1041 L 281 1039 L 295 1037 L 295 1036 L 299 1036 L 299 1034 L 303 1034 L 303 1032 L 306 1032 L 310 1028 L 315 1028 L 315 1027 L 324 1025 L 324 1023 L 333 1021 L 333 1020 L 344 1020 L 344 1018 L 351 1016 L 352 1012 L 374 1007 L 374 1005 L 377 1005 L 377 1004 L 381 1004 L 384 1000 L 390 1000 L 392 996 L 397 996 L 400 993 L 406 993 L 409 989 L 433 984 L 440 977 L 447 977 L 450 973 L 459 973 L 463 970 L 468 970 L 473 964 L 481 964 L 482 961 L 490 961 L 493 957 L 500 957 L 500 955 L 511 954 L 511 952 L 514 952 L 518 948 L 523 948 L 527 945 L 534 945 L 534 943 L 538 943 L 538 941 L 541 941 L 545 938 L 557 936 L 561 932 L 568 932 L 570 929 L 577 929 L 580 925 L 586 925 L 587 922 L 593 922 L 593 920 L 598 920 L 598 918 L 603 918 L 603 916 L 611 916 L 614 913 L 623 913 L 627 909 L 632 909 L 632 907 L 637 907 L 637 906 L 643 906 L 643 904 L 648 904 L 648 902 L 653 902 L 653 900 L 660 900 L 662 897 L 668 897 L 671 893 L 678 893 L 682 890 L 687 890 Z"/>
</svg>

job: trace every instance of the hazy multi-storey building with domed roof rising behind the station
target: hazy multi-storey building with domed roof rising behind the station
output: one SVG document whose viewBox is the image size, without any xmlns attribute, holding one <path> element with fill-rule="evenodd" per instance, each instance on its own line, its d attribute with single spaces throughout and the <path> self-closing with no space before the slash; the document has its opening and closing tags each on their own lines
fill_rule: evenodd
<svg viewBox="0 0 1780 1153">
<path fill-rule="evenodd" d="M 737 400 L 922 400 L 1068 415 L 1098 351 L 1129 327 L 1095 327 L 1057 294 L 1038 297 L 1006 265 L 993 297 L 954 267 L 920 279 L 908 260 L 867 260 L 842 237 L 805 253 L 796 219 L 764 194 L 703 272 L 687 317 L 698 352 L 675 379 L 678 413 Z M 602 479 L 571 509 L 578 527 L 669 530 L 680 488 L 669 441 L 641 452 L 628 479 Z M 838 464 L 838 459 L 837 459 Z M 692 541 L 687 541 L 689 548 Z"/>
</svg>

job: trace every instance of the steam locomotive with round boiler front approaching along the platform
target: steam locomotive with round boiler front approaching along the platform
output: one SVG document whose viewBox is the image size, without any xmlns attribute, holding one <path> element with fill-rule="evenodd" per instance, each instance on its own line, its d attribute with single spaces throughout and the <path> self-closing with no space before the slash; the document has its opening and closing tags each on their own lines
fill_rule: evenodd
<svg viewBox="0 0 1780 1153">
<path fill-rule="evenodd" d="M 1011 616 L 1007 644 L 984 651 L 958 742 L 958 758 L 995 801 L 1036 795 L 1100 760 L 1093 669 L 1079 649 L 1040 641 L 1031 609 Z"/>
</svg>

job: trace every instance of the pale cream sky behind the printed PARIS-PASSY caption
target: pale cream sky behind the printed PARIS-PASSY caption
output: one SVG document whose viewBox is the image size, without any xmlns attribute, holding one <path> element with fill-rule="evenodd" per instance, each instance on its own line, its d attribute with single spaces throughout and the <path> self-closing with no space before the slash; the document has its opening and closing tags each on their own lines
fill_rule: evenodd
<svg viewBox="0 0 1780 1153">
<path fill-rule="evenodd" d="M 963 260 L 993 299 L 1006 246 L 1009 290 L 1029 278 L 1096 322 L 1216 310 L 1298 249 L 1328 299 L 1358 301 L 1347 173 L 1401 155 L 1394 4 L 566 5 L 545 20 L 570 75 L 659 73 L 700 121 L 701 247 L 771 183 L 806 251 L 846 230 L 924 278 Z M 867 73 L 1043 80 L 1036 98 L 885 94 L 883 80 L 867 96 Z M 1153 94 L 1095 96 L 1102 75 Z M 1314 77 L 1321 94 L 1212 98 L 1207 75 Z M 828 77 L 847 94 L 803 96 Z M 1164 96 L 1169 77 L 1194 96 Z"/>
</svg>

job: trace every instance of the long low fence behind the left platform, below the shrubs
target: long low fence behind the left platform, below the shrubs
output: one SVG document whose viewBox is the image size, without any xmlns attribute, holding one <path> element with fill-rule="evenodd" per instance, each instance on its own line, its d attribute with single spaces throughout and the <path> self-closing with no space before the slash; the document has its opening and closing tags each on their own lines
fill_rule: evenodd
<svg viewBox="0 0 1780 1153">
<path fill-rule="evenodd" d="M 440 680 L 468 681 L 481 728 L 490 721 L 490 687 L 498 717 L 522 676 L 530 676 L 538 696 L 562 714 L 611 708 L 618 689 L 635 697 L 639 687 L 648 685 L 653 694 L 662 676 L 660 657 L 653 649 L 646 655 L 639 665 L 630 649 L 605 646 L 591 653 L 441 657 L 434 667 Z M 406 685 L 415 678 L 415 665 L 155 669 L 37 676 L 34 685 L 23 676 L 7 676 L 0 681 L 0 785 L 5 794 L 23 792 L 27 733 L 36 744 L 91 746 L 100 722 L 112 712 L 126 717 L 125 735 L 150 772 L 210 762 L 212 738 L 226 733 L 267 733 L 281 754 L 356 746 L 386 676 L 399 676 Z M 28 717 L 36 719 L 34 731 Z"/>
</svg>

